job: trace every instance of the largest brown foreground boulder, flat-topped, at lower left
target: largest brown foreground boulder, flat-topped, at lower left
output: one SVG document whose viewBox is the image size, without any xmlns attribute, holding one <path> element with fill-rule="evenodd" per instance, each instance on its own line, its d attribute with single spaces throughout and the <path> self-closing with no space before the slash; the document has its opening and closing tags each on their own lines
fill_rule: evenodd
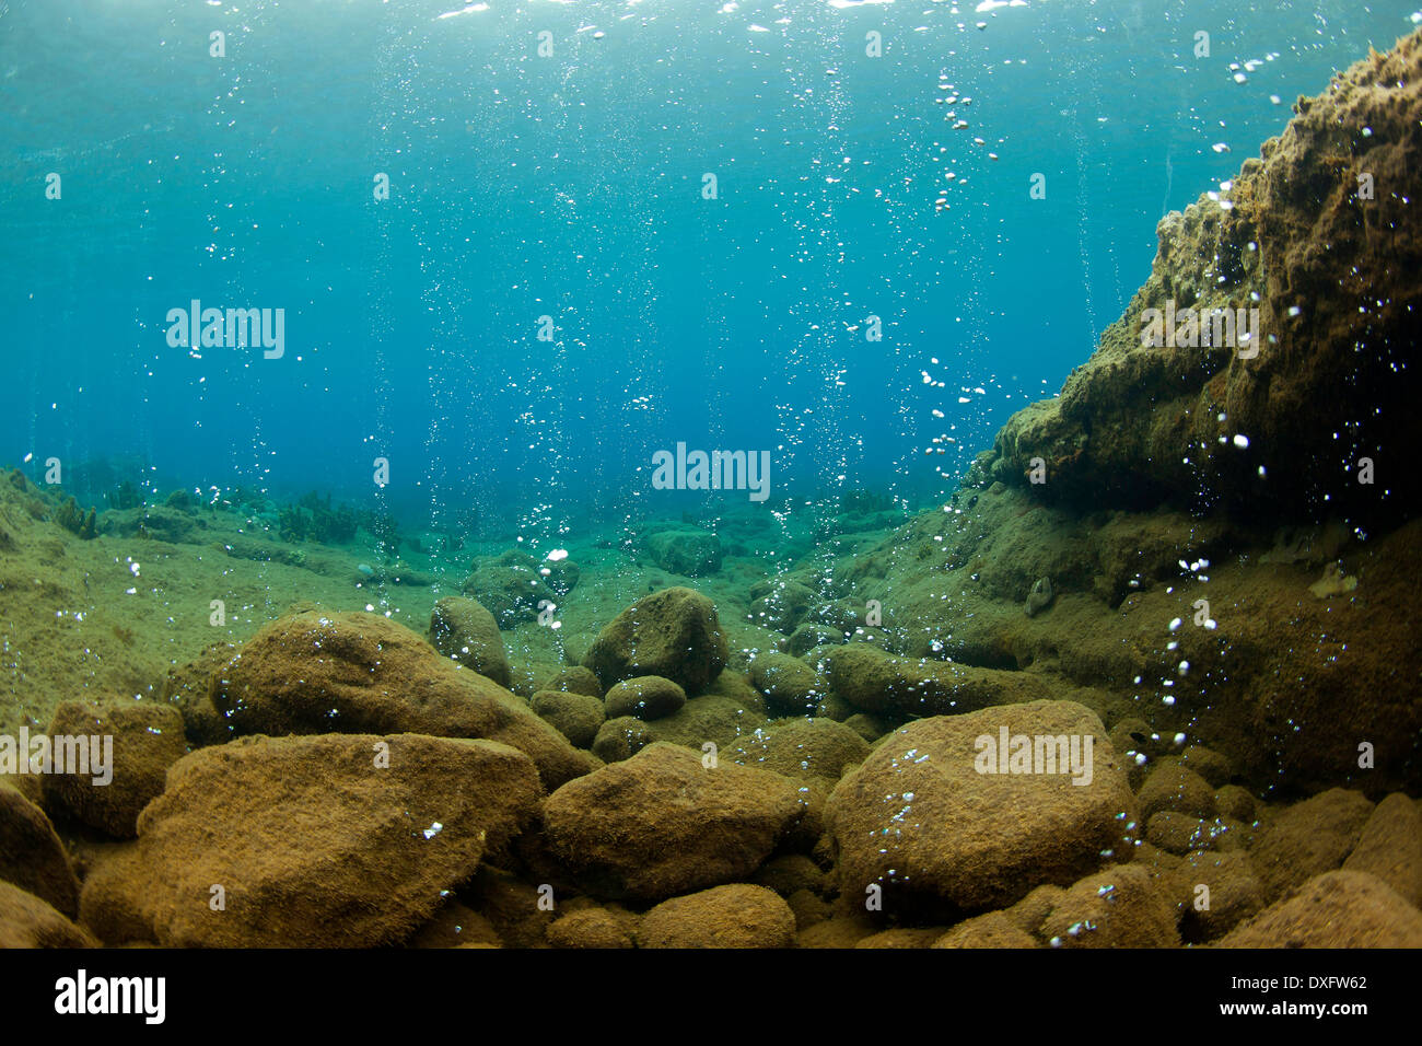
<svg viewBox="0 0 1422 1046">
<path fill-rule="evenodd" d="M 109 944 L 394 944 L 506 851 L 542 794 L 532 760 L 493 741 L 328 734 L 199 749 L 144 811 L 135 850 L 84 884 L 81 915 Z"/>
</svg>

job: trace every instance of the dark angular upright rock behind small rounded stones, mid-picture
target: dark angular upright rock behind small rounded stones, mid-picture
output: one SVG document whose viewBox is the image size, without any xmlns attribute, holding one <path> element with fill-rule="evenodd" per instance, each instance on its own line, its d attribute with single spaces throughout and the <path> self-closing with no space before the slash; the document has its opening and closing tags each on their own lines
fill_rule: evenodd
<svg viewBox="0 0 1422 1046">
<path fill-rule="evenodd" d="M 690 588 L 638 599 L 597 633 L 583 665 L 603 689 L 633 676 L 663 676 L 695 696 L 707 689 L 729 652 L 715 603 Z"/>
</svg>

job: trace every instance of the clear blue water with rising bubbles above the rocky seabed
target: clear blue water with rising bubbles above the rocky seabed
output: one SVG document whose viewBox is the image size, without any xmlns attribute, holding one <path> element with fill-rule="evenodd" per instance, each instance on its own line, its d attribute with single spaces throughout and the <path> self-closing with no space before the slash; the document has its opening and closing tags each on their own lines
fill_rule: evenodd
<svg viewBox="0 0 1422 1046">
<path fill-rule="evenodd" d="M 1415 10 L 481 7 L 0 1 L 0 463 L 361 501 L 381 457 L 402 515 L 529 527 L 744 504 L 651 488 L 684 441 L 769 450 L 772 507 L 926 504 L 1162 213 Z M 192 299 L 284 309 L 284 354 L 171 347 Z"/>
</svg>

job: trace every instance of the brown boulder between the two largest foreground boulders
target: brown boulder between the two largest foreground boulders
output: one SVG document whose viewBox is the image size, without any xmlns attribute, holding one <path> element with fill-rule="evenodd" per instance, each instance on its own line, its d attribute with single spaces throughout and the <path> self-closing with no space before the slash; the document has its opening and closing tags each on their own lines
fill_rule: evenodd
<svg viewBox="0 0 1422 1046">
<path fill-rule="evenodd" d="M 793 781 L 675 744 L 650 744 L 549 796 L 556 857 L 589 892 L 660 901 L 749 878 L 793 825 Z"/>
</svg>

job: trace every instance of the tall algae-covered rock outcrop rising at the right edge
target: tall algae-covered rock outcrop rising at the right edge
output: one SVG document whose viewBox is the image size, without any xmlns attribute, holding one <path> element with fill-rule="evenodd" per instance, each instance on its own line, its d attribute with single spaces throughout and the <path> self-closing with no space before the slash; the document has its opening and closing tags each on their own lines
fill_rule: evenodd
<svg viewBox="0 0 1422 1046">
<path fill-rule="evenodd" d="M 1416 184 L 1419 118 L 1416 33 L 1300 98 L 1224 194 L 1162 219 L 1146 285 L 1058 398 L 1004 426 L 987 474 L 1091 508 L 1223 502 L 1307 518 L 1327 498 L 1352 519 L 1416 515 L 1419 490 L 1379 498 L 1357 470 L 1415 443 L 1418 377 L 1398 360 L 1422 307 L 1422 215 L 1398 186 Z M 1362 198 L 1361 175 L 1395 189 Z M 1214 310 L 1236 320 L 1233 339 L 1212 329 Z M 1158 344 L 1143 343 L 1152 320 Z M 1030 485 L 1034 460 L 1045 482 Z"/>
</svg>

